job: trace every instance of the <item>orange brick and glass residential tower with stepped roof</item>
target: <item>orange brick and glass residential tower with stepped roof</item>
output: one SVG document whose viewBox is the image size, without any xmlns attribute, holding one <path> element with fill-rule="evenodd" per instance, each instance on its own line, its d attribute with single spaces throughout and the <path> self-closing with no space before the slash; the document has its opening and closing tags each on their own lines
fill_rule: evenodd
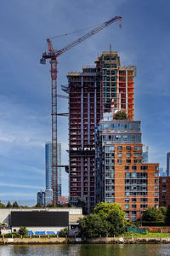
<svg viewBox="0 0 170 256">
<path fill-rule="evenodd" d="M 119 203 L 130 221 L 148 207 L 158 207 L 159 164 L 142 162 L 140 121 L 104 114 L 95 148 L 96 203 Z"/>
</svg>

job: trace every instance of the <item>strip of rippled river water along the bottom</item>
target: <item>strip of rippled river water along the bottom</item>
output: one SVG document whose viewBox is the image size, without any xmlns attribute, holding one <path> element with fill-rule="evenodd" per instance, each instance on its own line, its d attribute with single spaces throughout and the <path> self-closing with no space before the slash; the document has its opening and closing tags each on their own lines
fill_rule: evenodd
<svg viewBox="0 0 170 256">
<path fill-rule="evenodd" d="M 168 244 L 75 244 L 75 245 L 4 245 L 0 256 L 57 255 L 57 256 L 169 256 Z"/>
</svg>

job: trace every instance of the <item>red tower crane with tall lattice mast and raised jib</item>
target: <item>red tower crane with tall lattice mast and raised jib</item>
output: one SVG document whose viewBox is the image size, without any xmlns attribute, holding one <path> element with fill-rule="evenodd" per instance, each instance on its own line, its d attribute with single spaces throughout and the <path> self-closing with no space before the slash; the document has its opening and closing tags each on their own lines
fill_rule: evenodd
<svg viewBox="0 0 170 256">
<path fill-rule="evenodd" d="M 103 30 L 105 27 L 110 26 L 116 20 L 122 20 L 121 16 L 116 16 L 111 20 L 105 21 L 100 26 L 97 26 L 92 31 L 86 33 L 81 38 L 73 41 L 62 49 L 54 49 L 51 40 L 48 38 L 48 50 L 42 54 L 41 64 L 46 64 L 46 59 L 50 60 L 50 73 L 51 73 L 51 95 L 52 95 L 52 189 L 53 189 L 53 202 L 56 204 L 59 199 L 58 189 L 58 160 L 57 160 L 57 59 L 59 55 L 65 53 L 65 51 L 73 48 L 82 41 L 92 37 L 97 32 Z"/>
</svg>

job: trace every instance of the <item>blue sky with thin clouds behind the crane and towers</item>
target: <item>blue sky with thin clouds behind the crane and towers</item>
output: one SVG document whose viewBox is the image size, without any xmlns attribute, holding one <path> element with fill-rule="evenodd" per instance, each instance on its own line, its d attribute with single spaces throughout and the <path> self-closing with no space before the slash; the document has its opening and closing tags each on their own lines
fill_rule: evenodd
<svg viewBox="0 0 170 256">
<path fill-rule="evenodd" d="M 169 0 L 2 0 L 0 3 L 0 200 L 33 205 L 45 186 L 44 143 L 50 139 L 49 64 L 40 65 L 46 38 L 94 26 L 122 15 L 119 22 L 59 56 L 58 84 L 66 74 L 94 64 L 102 51 L 117 50 L 121 64 L 135 65 L 135 119 L 142 122 L 150 162 L 166 169 L 170 151 Z M 61 49 L 84 32 L 53 40 Z M 88 31 L 87 31 L 88 32 Z M 67 112 L 59 99 L 59 111 Z M 62 164 L 68 163 L 67 118 L 59 118 Z M 62 193 L 68 177 L 62 172 Z"/>
</svg>

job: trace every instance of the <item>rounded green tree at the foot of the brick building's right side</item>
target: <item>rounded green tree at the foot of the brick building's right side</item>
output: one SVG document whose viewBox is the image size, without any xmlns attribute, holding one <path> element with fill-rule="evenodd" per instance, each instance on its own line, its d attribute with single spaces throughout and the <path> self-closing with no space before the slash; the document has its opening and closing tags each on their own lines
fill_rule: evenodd
<svg viewBox="0 0 170 256">
<path fill-rule="evenodd" d="M 163 222 L 164 216 L 161 210 L 156 209 L 156 207 L 150 207 L 146 211 L 144 211 L 142 219 L 144 221 Z"/>
</svg>

